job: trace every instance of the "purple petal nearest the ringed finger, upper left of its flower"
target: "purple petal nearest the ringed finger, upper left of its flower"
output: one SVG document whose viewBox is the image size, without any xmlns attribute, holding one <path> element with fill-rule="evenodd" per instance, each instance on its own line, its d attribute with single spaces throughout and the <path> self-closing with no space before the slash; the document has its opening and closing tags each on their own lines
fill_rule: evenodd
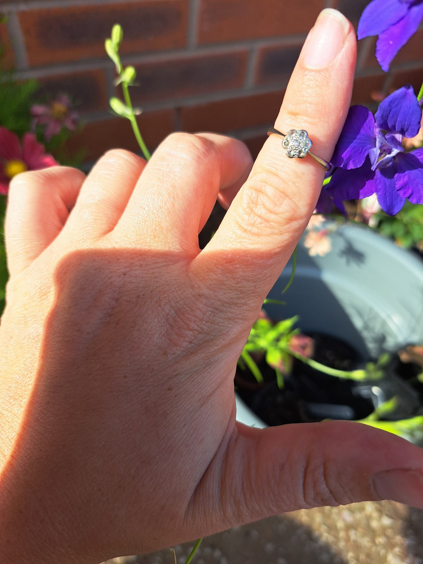
<svg viewBox="0 0 423 564">
<path fill-rule="evenodd" d="M 343 169 L 358 169 L 373 147 L 376 147 L 376 135 L 372 112 L 364 106 L 352 106 L 331 163 Z"/>
</svg>

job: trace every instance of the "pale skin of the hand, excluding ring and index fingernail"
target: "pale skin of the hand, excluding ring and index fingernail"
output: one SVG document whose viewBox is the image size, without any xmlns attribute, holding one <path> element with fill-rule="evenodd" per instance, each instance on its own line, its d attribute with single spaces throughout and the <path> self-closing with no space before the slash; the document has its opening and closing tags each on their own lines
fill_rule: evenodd
<svg viewBox="0 0 423 564">
<path fill-rule="evenodd" d="M 326 14 L 323 17 L 329 17 Z M 334 16 L 332 16 L 334 17 Z M 340 18 L 341 16 L 337 16 Z M 277 116 L 330 160 L 356 43 L 299 58 Z M 306 49 L 306 47 L 305 47 Z M 271 136 L 173 134 L 146 164 L 104 155 L 11 184 L 0 329 L 0 563 L 92 564 L 276 513 L 423 508 L 423 451 L 351 422 L 237 424 L 233 376 L 323 181 Z M 228 208 L 202 252 L 218 199 Z"/>
</svg>

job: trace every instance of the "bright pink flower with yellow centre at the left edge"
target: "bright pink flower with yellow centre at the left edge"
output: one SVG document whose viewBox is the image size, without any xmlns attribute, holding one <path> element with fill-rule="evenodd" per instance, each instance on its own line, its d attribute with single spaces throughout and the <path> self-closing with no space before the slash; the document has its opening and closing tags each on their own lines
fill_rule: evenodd
<svg viewBox="0 0 423 564">
<path fill-rule="evenodd" d="M 59 163 L 51 155 L 46 155 L 44 146 L 38 143 L 33 133 L 25 133 L 21 146 L 15 133 L 0 127 L 0 194 L 7 194 L 10 180 L 16 174 L 50 166 L 59 166 Z"/>
</svg>

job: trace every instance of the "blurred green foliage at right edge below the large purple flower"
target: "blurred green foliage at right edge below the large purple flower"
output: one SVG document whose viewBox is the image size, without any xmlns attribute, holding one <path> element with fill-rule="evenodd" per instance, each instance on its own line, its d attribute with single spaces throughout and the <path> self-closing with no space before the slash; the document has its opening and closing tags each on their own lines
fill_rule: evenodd
<svg viewBox="0 0 423 564">
<path fill-rule="evenodd" d="M 378 231 L 392 237 L 397 245 L 406 249 L 416 247 L 423 251 L 423 205 L 407 201 L 395 217 L 380 211 L 374 219 L 377 221 Z"/>
</svg>

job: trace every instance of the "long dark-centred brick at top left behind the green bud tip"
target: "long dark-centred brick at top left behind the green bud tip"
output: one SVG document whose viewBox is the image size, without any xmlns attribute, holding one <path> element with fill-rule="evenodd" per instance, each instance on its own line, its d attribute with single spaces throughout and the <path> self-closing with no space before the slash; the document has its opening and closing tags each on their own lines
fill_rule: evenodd
<svg viewBox="0 0 423 564">
<path fill-rule="evenodd" d="M 31 66 L 106 56 L 104 40 L 117 21 L 124 28 L 122 53 L 183 47 L 188 0 L 73 6 L 20 12 Z"/>
</svg>

